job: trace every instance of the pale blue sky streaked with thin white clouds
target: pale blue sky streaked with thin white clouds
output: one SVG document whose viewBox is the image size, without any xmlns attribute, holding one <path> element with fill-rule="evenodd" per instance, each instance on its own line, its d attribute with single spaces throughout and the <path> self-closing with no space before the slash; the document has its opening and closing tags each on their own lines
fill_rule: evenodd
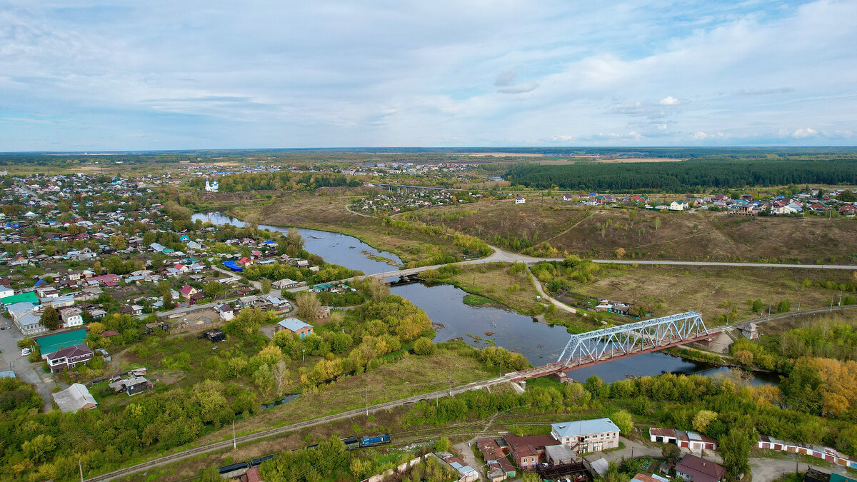
<svg viewBox="0 0 857 482">
<path fill-rule="evenodd" d="M 0 0 L 0 152 L 857 144 L 857 0 Z"/>
</svg>

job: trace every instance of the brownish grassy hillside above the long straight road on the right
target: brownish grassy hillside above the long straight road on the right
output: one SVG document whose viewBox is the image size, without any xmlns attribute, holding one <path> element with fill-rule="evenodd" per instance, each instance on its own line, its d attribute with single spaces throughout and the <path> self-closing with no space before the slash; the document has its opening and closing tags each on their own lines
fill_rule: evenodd
<svg viewBox="0 0 857 482">
<path fill-rule="evenodd" d="M 442 223 L 489 244 L 495 237 L 526 239 L 532 244 L 548 241 L 560 250 L 592 258 L 611 258 L 622 248 L 626 258 L 638 259 L 857 264 L 857 220 L 847 218 L 578 208 L 539 196 L 527 196 L 520 205 L 476 202 L 406 215 Z"/>
</svg>

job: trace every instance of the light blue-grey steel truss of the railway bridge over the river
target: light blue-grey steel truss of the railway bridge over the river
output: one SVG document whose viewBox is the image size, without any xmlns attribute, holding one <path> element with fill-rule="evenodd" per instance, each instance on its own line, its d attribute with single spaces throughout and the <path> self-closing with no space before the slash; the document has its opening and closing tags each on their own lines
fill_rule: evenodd
<svg viewBox="0 0 857 482">
<path fill-rule="evenodd" d="M 558 364 L 585 365 L 638 352 L 655 351 L 708 336 L 702 315 L 687 311 L 583 334 L 572 334 Z"/>
</svg>

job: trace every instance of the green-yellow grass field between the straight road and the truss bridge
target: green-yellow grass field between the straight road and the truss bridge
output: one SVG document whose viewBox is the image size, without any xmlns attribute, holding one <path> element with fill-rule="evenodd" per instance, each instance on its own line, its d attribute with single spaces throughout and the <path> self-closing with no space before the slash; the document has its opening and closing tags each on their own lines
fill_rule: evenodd
<svg viewBox="0 0 857 482">
<path fill-rule="evenodd" d="M 786 268 L 716 268 L 605 266 L 595 280 L 577 284 L 572 290 L 596 298 L 645 304 L 655 308 L 653 316 L 699 310 L 706 324 L 734 309 L 729 322 L 752 319 L 752 300 L 760 299 L 764 313 L 768 305 L 788 299 L 791 310 L 828 306 L 838 300 L 838 290 L 804 286 L 804 280 L 850 280 L 854 274 L 831 270 Z M 631 318 L 624 318 L 629 322 Z"/>
</svg>

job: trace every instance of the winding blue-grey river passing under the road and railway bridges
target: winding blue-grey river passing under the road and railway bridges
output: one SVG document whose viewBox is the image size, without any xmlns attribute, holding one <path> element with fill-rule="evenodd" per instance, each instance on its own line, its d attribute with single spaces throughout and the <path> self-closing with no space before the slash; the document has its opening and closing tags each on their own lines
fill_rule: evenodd
<svg viewBox="0 0 857 482">
<path fill-rule="evenodd" d="M 194 214 L 193 220 L 197 219 L 211 221 L 215 225 L 229 223 L 232 226 L 243 226 L 241 220 L 221 213 Z M 281 226 L 259 225 L 259 228 L 288 231 L 288 228 Z M 359 269 L 367 274 L 394 269 L 386 262 L 370 259 L 363 251 L 401 263 L 399 257 L 393 253 L 375 250 L 369 244 L 345 234 L 303 228 L 299 228 L 298 232 L 306 240 L 306 250 L 321 256 L 327 262 L 346 268 Z M 521 353 L 532 365 L 544 365 L 556 361 L 568 341 L 568 333 L 563 326 L 536 322 L 530 316 L 520 315 L 512 310 L 464 304 L 464 296 L 467 293 L 455 286 L 413 283 L 394 286 L 391 292 L 409 299 L 411 303 L 423 309 L 433 322 L 443 325 L 444 328 L 436 329 L 434 340 L 437 342 L 460 337 L 471 346 L 482 347 L 488 346 L 488 340 L 491 340 L 497 346 Z M 728 371 L 728 367 L 713 367 L 663 352 L 649 352 L 581 368 L 570 372 L 570 376 L 576 380 L 585 380 L 596 375 L 603 381 L 612 383 L 626 377 L 660 375 L 665 372 L 716 376 L 725 375 Z M 777 377 L 754 374 L 750 383 L 777 383 Z"/>
</svg>

